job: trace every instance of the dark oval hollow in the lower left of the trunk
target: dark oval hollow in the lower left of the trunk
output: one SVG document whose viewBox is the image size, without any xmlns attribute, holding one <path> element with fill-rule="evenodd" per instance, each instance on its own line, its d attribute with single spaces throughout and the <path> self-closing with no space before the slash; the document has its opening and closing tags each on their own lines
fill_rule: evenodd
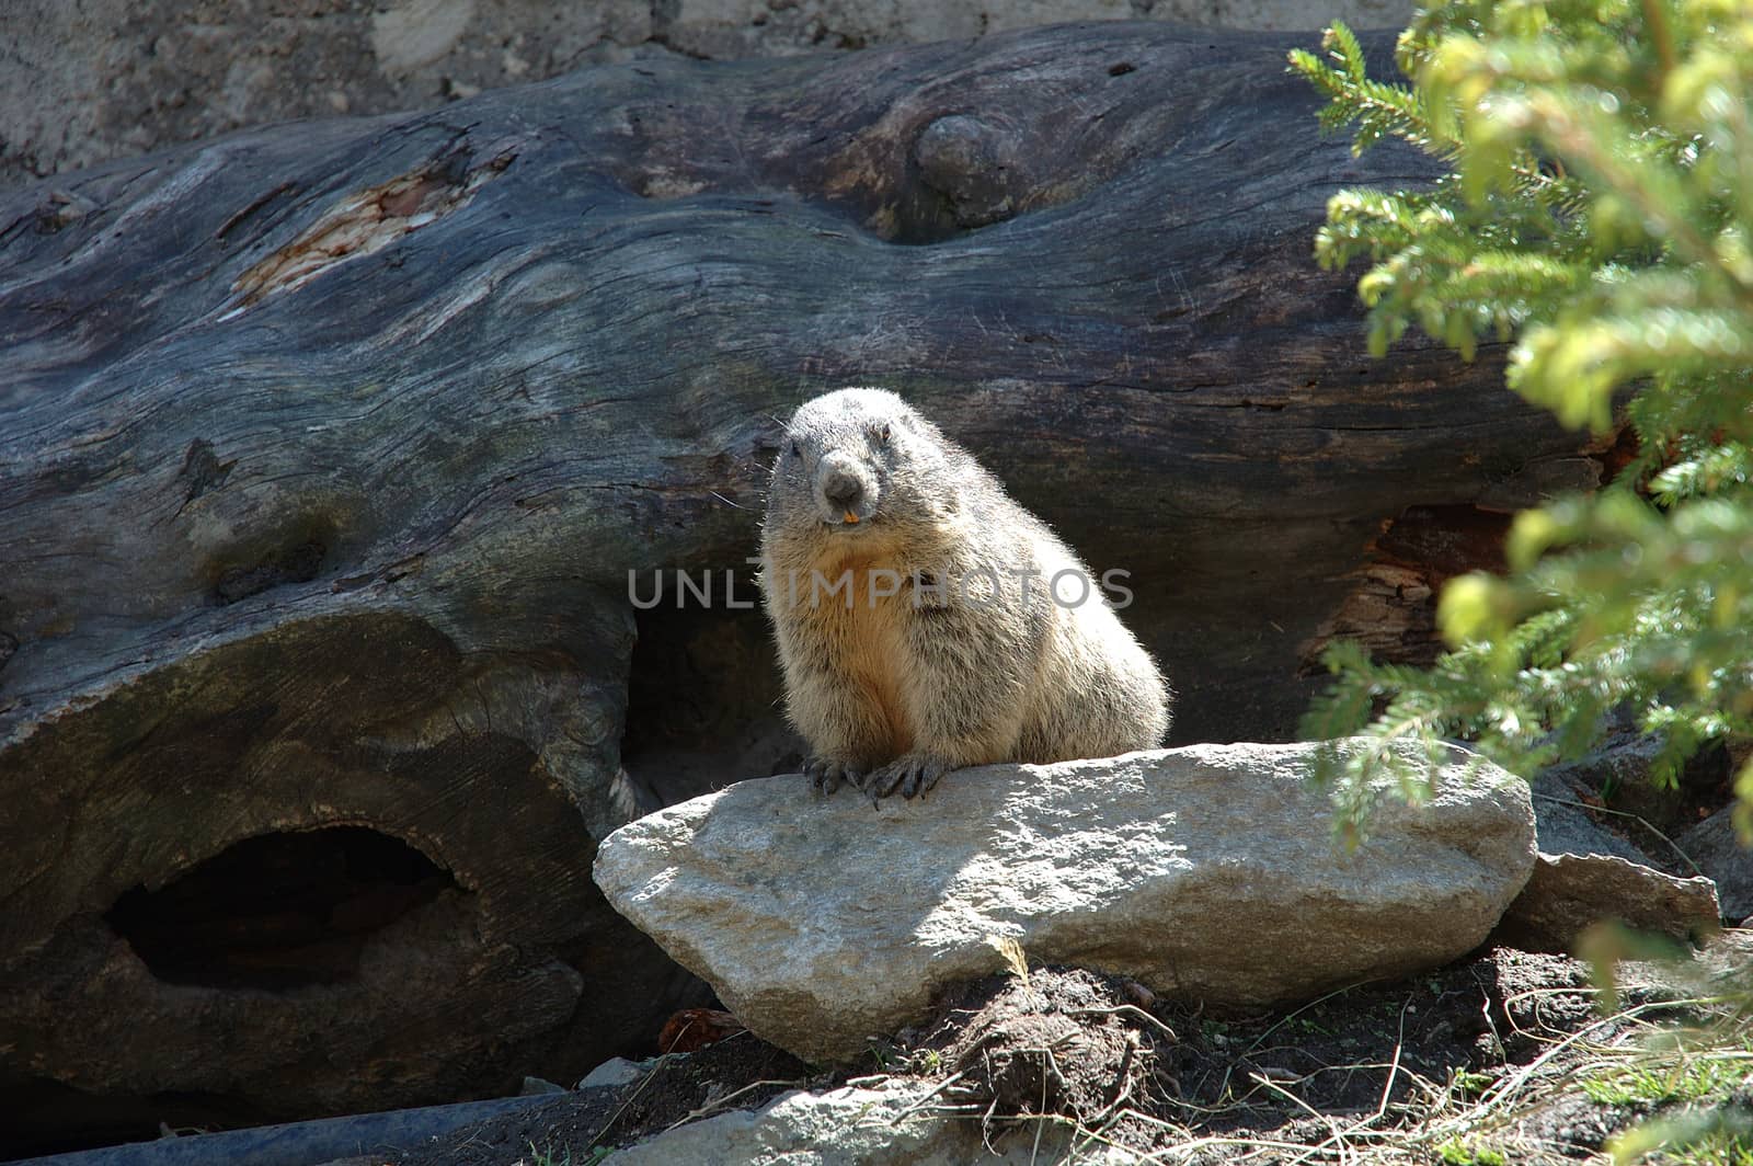
<svg viewBox="0 0 1753 1166">
<path fill-rule="evenodd" d="M 351 980 L 375 933 L 454 887 L 400 838 L 331 826 L 245 838 L 105 921 L 167 984 L 286 991 Z"/>
</svg>

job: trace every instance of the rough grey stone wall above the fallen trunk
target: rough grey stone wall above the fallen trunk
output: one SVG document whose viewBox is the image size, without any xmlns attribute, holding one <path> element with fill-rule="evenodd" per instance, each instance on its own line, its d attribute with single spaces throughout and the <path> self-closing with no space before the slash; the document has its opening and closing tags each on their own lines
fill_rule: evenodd
<svg viewBox="0 0 1753 1166">
<path fill-rule="evenodd" d="M 663 53 L 780 56 L 1075 19 L 1378 28 L 1409 14 L 1411 0 L 0 0 L 0 186 Z"/>
</svg>

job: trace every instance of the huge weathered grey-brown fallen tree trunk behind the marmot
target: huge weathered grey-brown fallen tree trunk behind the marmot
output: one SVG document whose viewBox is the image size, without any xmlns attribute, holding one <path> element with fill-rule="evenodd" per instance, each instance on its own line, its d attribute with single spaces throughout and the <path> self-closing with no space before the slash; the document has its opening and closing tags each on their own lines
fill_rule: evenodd
<svg viewBox="0 0 1753 1166">
<path fill-rule="evenodd" d="M 1318 140 L 1287 44 L 642 61 L 0 202 L 0 1110 L 300 1117 L 649 1038 L 687 987 L 596 840 L 784 747 L 759 614 L 635 617 L 628 573 L 742 570 L 822 389 L 1131 570 L 1178 740 L 1285 735 L 1324 624 L 1453 566 L 1359 575 L 1387 524 L 1597 470 L 1490 359 L 1364 356 L 1311 233 L 1429 167 Z"/>
</svg>

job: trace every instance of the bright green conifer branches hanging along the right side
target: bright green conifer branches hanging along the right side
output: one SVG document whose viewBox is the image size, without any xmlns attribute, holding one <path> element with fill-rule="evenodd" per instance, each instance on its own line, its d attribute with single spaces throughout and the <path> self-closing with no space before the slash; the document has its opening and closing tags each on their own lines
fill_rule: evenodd
<svg viewBox="0 0 1753 1166">
<path fill-rule="evenodd" d="M 1367 75 L 1334 25 L 1290 67 L 1353 151 L 1392 133 L 1450 165 L 1430 189 L 1348 189 L 1324 267 L 1367 260 L 1369 344 L 1409 326 L 1471 356 L 1515 337 L 1508 379 L 1567 424 L 1629 424 L 1609 489 L 1518 515 L 1504 577 L 1441 596 L 1430 668 L 1332 643 L 1306 733 L 1360 736 L 1317 766 L 1360 836 L 1388 787 L 1416 789 L 1443 736 L 1532 775 L 1592 747 L 1609 715 L 1662 740 L 1672 775 L 1753 735 L 1753 12 L 1608 0 L 1451 4 Z M 1653 56 L 1651 56 L 1653 54 Z M 1753 761 L 1737 789 L 1753 824 Z"/>
</svg>

